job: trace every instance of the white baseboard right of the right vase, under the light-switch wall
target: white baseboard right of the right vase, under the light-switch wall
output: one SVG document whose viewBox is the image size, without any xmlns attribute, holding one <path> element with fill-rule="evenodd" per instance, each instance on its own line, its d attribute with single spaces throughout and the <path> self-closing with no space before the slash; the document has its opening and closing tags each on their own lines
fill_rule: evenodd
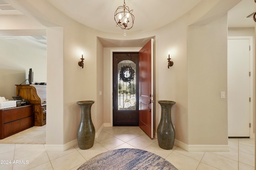
<svg viewBox="0 0 256 170">
<path fill-rule="evenodd" d="M 175 139 L 174 145 L 188 152 L 229 152 L 228 145 L 187 145 Z"/>
</svg>

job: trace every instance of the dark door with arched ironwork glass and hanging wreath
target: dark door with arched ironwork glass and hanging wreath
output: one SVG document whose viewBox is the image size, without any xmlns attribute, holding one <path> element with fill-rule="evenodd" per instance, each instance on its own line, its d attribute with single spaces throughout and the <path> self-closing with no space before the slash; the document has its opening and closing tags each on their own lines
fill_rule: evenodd
<svg viewBox="0 0 256 170">
<path fill-rule="evenodd" d="M 113 126 L 138 126 L 138 52 L 113 53 Z"/>
</svg>

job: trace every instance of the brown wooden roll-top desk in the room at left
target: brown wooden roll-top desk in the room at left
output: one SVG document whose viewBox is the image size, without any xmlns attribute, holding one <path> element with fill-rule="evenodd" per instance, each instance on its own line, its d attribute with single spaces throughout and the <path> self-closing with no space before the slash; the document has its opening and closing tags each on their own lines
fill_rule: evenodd
<svg viewBox="0 0 256 170">
<path fill-rule="evenodd" d="M 46 85 L 16 85 L 17 96 L 33 105 L 34 126 L 46 124 Z"/>
</svg>

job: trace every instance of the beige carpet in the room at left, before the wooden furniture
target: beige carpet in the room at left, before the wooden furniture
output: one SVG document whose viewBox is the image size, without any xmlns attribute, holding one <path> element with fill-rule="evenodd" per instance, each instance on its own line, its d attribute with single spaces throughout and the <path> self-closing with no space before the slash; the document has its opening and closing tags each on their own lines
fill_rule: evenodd
<svg viewBox="0 0 256 170">
<path fill-rule="evenodd" d="M 7 144 L 46 144 L 46 125 L 33 126 L 12 136 L 0 139 Z"/>
</svg>

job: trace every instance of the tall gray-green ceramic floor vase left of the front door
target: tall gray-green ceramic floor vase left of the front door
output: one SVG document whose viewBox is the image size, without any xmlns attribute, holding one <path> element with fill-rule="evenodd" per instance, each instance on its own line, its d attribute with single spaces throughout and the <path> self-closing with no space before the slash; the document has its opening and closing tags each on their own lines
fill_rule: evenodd
<svg viewBox="0 0 256 170">
<path fill-rule="evenodd" d="M 81 108 L 81 120 L 77 129 L 77 141 L 80 149 L 89 149 L 94 144 L 95 128 L 92 123 L 91 107 L 94 101 L 76 102 Z"/>
</svg>

